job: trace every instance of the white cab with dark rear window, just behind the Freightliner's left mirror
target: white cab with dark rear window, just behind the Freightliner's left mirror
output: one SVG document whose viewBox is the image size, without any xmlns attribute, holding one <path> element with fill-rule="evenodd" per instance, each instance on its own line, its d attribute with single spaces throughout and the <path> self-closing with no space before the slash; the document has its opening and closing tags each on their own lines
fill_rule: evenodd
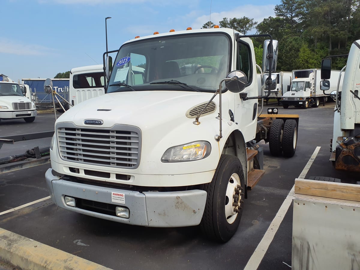
<svg viewBox="0 0 360 270">
<path fill-rule="evenodd" d="M 69 103 L 76 105 L 105 94 L 103 65 L 72 68 L 69 81 Z"/>
</svg>

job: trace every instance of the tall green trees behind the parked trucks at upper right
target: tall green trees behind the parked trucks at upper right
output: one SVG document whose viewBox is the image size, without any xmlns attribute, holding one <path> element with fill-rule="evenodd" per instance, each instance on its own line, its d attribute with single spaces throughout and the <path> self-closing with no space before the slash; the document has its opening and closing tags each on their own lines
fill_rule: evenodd
<svg viewBox="0 0 360 270">
<path fill-rule="evenodd" d="M 262 22 L 223 18 L 220 27 L 247 34 L 256 28 L 279 41 L 277 71 L 320 68 L 328 55 L 348 54 L 360 39 L 360 0 L 281 0 L 275 17 Z M 205 26 L 206 24 L 204 24 Z M 263 38 L 252 38 L 256 63 L 261 66 Z M 333 58 L 332 69 L 341 69 L 347 58 Z"/>
</svg>

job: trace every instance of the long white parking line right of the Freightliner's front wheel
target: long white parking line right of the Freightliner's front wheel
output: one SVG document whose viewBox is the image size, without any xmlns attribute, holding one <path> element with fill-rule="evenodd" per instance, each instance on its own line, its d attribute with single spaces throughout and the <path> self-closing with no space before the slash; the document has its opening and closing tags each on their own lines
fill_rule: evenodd
<svg viewBox="0 0 360 270">
<path fill-rule="evenodd" d="M 306 166 L 303 168 L 301 174 L 299 175 L 299 179 L 304 179 L 305 175 L 310 169 L 312 162 L 314 162 L 315 157 L 318 155 L 320 150 L 320 146 L 316 147 L 314 153 L 310 157 L 309 161 L 306 163 Z M 262 258 L 264 258 L 267 249 L 269 248 L 271 241 L 273 241 L 276 231 L 278 231 L 281 222 L 284 219 L 286 212 L 289 209 L 289 206 L 292 202 L 293 195 L 294 195 L 294 188 L 293 185 L 292 189 L 290 190 L 289 194 L 285 198 L 285 201 L 280 206 L 279 211 L 276 213 L 273 221 L 267 231 L 265 232 L 264 237 L 261 239 L 260 243 L 257 245 L 254 253 L 252 253 L 248 263 L 246 264 L 244 270 L 255 270 L 259 267 Z"/>
</svg>

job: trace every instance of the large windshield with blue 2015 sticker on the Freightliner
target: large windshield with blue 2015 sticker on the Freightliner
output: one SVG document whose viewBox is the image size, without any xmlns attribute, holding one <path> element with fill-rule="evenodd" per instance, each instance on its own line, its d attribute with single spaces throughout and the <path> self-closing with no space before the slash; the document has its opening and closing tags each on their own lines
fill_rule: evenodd
<svg viewBox="0 0 360 270">
<path fill-rule="evenodd" d="M 194 91 L 192 87 L 214 92 L 229 72 L 229 58 L 230 41 L 221 33 L 132 42 L 120 48 L 107 93 L 132 91 L 120 84 L 127 84 L 135 91 Z"/>
</svg>

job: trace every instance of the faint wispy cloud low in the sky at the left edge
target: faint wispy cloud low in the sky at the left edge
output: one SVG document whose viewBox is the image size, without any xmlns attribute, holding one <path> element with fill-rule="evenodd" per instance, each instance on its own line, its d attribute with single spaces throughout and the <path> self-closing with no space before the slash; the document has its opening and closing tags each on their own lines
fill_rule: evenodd
<svg viewBox="0 0 360 270">
<path fill-rule="evenodd" d="M 24 44 L 18 41 L 0 38 L 0 53 L 16 55 L 46 55 L 53 49 L 41 45 Z"/>
</svg>

